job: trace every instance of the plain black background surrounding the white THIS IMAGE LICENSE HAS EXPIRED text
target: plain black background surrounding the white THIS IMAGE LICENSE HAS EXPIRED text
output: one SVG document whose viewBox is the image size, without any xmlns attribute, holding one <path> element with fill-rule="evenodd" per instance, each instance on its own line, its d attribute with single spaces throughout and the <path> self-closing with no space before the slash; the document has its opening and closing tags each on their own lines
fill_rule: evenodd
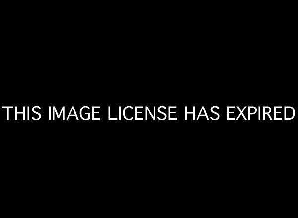
<svg viewBox="0 0 298 218">
<path fill-rule="evenodd" d="M 5 204 L 284 213 L 295 193 L 297 118 L 228 122 L 225 107 L 297 109 L 294 14 L 268 5 L 123 6 L 9 10 L 1 106 L 177 105 L 179 121 L 2 119 Z M 184 106 L 213 105 L 223 111 L 218 122 L 183 121 Z"/>
</svg>

